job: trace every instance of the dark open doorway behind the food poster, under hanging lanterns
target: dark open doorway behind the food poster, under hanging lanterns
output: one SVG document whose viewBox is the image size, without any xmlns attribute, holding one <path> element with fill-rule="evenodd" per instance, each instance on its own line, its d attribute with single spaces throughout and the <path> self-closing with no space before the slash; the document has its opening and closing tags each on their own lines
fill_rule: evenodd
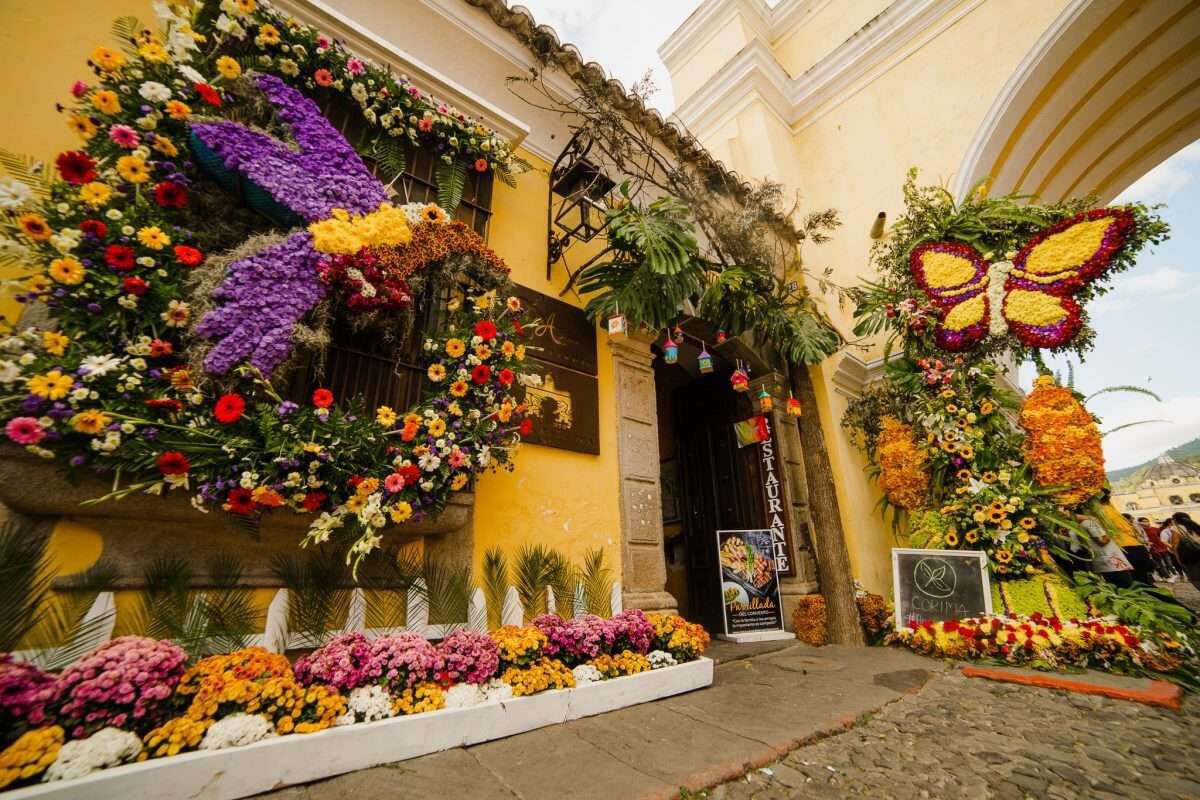
<svg viewBox="0 0 1200 800">
<path fill-rule="evenodd" d="M 673 405 L 689 610 L 719 632 L 716 531 L 761 528 L 766 519 L 758 447 L 738 447 L 733 431 L 751 416 L 750 403 L 716 373 L 676 389 Z"/>
</svg>

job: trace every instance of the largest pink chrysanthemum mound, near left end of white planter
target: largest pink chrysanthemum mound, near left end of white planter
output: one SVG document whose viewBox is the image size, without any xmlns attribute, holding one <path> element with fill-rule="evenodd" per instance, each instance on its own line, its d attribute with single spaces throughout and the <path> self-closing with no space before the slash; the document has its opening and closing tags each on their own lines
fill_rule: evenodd
<svg viewBox="0 0 1200 800">
<path fill-rule="evenodd" d="M 106 642 L 59 678 L 60 722 L 73 739 L 106 726 L 145 733 L 163 716 L 187 654 L 170 642 L 122 636 Z"/>
</svg>

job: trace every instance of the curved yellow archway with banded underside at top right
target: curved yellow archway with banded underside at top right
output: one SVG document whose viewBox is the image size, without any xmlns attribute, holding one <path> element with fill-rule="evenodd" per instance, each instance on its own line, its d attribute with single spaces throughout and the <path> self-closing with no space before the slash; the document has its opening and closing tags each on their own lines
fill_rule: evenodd
<svg viewBox="0 0 1200 800">
<path fill-rule="evenodd" d="M 955 175 L 962 197 L 1045 200 L 1121 191 L 1200 139 L 1200 2 L 1072 0 L 984 118 Z"/>
</svg>

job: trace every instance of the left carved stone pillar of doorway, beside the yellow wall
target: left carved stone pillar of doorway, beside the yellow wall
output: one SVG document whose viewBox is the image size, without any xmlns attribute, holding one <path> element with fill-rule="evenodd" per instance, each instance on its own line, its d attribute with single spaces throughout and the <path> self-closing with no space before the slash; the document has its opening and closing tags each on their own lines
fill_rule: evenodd
<svg viewBox="0 0 1200 800">
<path fill-rule="evenodd" d="M 622 602 L 625 608 L 674 610 L 676 599 L 665 590 L 659 419 L 650 342 L 638 335 L 608 341 L 617 393 Z"/>
</svg>

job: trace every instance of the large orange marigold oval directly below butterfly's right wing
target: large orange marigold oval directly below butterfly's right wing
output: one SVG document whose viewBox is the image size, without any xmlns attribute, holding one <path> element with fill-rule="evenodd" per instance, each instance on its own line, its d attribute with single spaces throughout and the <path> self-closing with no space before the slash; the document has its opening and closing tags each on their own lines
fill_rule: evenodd
<svg viewBox="0 0 1200 800">
<path fill-rule="evenodd" d="M 1025 458 L 1038 485 L 1062 487 L 1054 498 L 1076 506 L 1104 487 L 1100 429 L 1075 392 L 1042 375 L 1021 409 Z"/>
</svg>

